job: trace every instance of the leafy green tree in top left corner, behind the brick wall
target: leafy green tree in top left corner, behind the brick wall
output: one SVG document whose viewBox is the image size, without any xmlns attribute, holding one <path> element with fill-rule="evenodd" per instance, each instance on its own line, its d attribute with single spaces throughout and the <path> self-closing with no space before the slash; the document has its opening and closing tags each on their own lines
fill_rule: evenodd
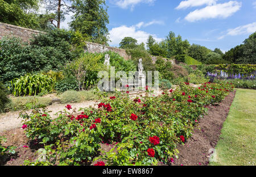
<svg viewBox="0 0 256 177">
<path fill-rule="evenodd" d="M 0 22 L 38 29 L 38 0 L 0 0 Z"/>
</svg>

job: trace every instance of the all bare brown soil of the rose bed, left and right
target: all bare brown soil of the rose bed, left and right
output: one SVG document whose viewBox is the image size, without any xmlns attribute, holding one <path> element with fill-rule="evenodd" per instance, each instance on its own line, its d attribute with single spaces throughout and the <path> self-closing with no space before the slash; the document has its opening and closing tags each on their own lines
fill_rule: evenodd
<svg viewBox="0 0 256 177">
<path fill-rule="evenodd" d="M 212 151 L 209 150 L 214 148 L 218 142 L 222 124 L 228 116 L 229 107 L 233 102 L 235 94 L 236 91 L 230 92 L 220 104 L 208 106 L 209 111 L 207 115 L 204 115 L 204 118 L 199 121 L 192 137 L 185 142 L 185 145 L 177 145 L 177 149 L 180 151 L 179 159 L 174 159 L 171 165 L 208 165 L 209 155 L 212 154 Z M 3 145 L 17 147 L 15 155 L 2 157 L 0 159 L 0 165 L 19 166 L 23 165 L 26 159 L 35 161 L 35 159 L 38 158 L 36 150 L 41 148 L 42 145 L 35 141 L 29 141 L 22 128 L 1 132 L 0 136 L 7 138 L 7 141 L 3 142 Z M 101 143 L 101 148 L 105 151 L 109 151 L 113 146 L 114 144 L 110 145 L 106 142 Z M 92 163 L 92 165 L 94 163 Z M 158 165 L 163 164 L 158 163 Z"/>
</svg>

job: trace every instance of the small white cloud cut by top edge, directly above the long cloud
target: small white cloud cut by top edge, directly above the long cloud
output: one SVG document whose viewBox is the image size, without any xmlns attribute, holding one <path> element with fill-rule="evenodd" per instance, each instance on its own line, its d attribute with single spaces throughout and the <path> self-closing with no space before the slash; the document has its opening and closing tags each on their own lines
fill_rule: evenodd
<svg viewBox="0 0 256 177">
<path fill-rule="evenodd" d="M 196 7 L 202 5 L 215 5 L 216 1 L 218 0 L 188 0 L 188 1 L 181 1 L 179 6 L 175 9 L 187 9 L 188 7 Z"/>
</svg>

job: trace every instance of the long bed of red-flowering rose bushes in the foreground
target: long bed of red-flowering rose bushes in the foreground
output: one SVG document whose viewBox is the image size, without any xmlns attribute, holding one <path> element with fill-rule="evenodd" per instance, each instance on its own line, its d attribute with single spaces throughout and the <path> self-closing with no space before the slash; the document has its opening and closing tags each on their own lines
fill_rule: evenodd
<svg viewBox="0 0 256 177">
<path fill-rule="evenodd" d="M 64 109 L 56 119 L 39 111 L 23 115 L 27 136 L 38 138 L 49 157 L 47 162 L 26 164 L 171 163 L 179 154 L 177 144 L 184 144 L 192 136 L 207 105 L 221 102 L 230 91 L 230 83 L 208 82 L 197 88 L 183 83 L 159 96 L 146 94 L 130 99 L 126 92 L 119 92 L 114 97 L 102 98 L 96 108 L 79 109 L 78 115 L 73 109 Z M 42 116 L 43 113 L 47 116 Z M 102 142 L 112 144 L 113 148 L 102 150 Z"/>
</svg>

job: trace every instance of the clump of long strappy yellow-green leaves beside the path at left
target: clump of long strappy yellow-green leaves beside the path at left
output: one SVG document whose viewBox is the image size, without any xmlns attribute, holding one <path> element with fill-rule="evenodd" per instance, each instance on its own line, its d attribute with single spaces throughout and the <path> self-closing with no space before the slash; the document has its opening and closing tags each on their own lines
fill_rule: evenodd
<svg viewBox="0 0 256 177">
<path fill-rule="evenodd" d="M 40 92 L 51 92 L 55 83 L 51 77 L 44 74 L 26 74 L 11 81 L 10 90 L 14 96 L 36 95 Z"/>
</svg>

